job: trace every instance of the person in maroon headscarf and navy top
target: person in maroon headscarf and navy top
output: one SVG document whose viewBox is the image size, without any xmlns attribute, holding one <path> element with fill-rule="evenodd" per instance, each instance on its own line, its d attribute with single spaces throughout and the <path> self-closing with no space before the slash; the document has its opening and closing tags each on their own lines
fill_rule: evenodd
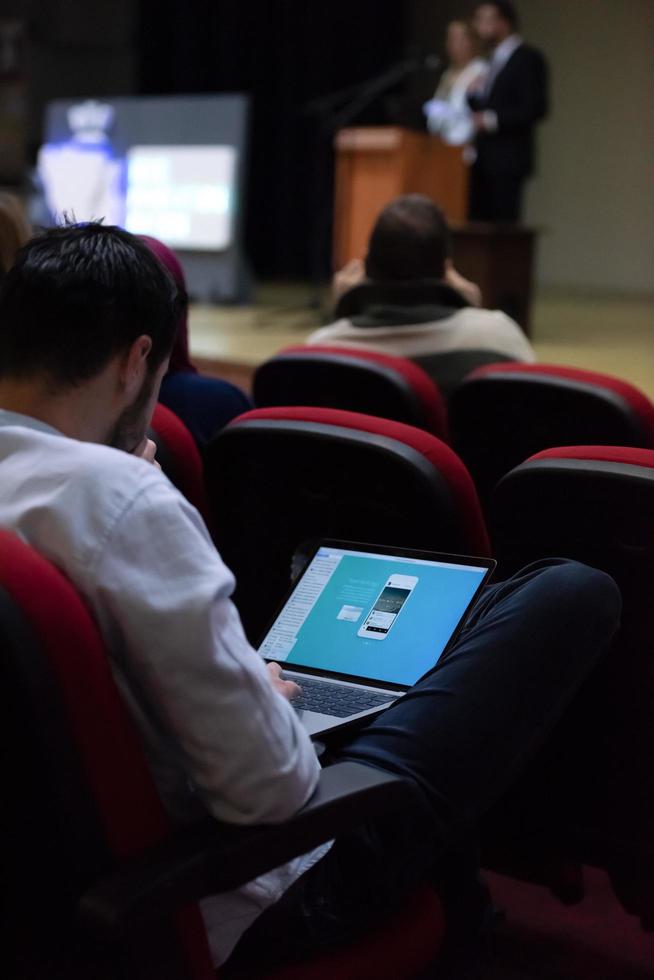
<svg viewBox="0 0 654 980">
<path fill-rule="evenodd" d="M 160 262 L 180 288 L 183 308 L 168 371 L 161 383 L 159 400 L 180 417 L 202 448 L 220 429 L 237 415 L 253 407 L 244 391 L 229 381 L 198 374 L 191 362 L 188 347 L 188 301 L 186 280 L 181 263 L 172 249 L 156 238 L 142 235 Z"/>
</svg>

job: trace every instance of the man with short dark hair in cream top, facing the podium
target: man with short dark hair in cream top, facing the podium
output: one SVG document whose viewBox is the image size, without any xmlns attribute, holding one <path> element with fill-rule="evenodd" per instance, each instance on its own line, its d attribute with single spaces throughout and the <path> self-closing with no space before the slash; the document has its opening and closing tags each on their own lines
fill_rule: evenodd
<svg viewBox="0 0 654 980">
<path fill-rule="evenodd" d="M 362 289 L 357 300 L 352 293 L 356 312 L 317 330 L 308 343 L 407 357 L 437 384 L 441 379 L 433 355 L 474 350 L 493 352 L 497 360 L 534 361 L 517 323 L 499 310 L 476 308 L 479 290 L 454 269 L 449 237 L 442 211 L 428 197 L 407 194 L 392 201 L 372 230 L 365 264 L 349 263 L 334 284 L 341 301 L 358 286 L 379 288 L 369 295 Z M 401 300 L 393 296 L 386 302 L 384 288 L 397 286 Z"/>
</svg>

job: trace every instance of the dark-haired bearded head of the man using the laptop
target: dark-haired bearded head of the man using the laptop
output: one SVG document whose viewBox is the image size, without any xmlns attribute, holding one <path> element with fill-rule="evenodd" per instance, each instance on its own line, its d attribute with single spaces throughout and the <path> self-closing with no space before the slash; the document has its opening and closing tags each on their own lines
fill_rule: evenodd
<svg viewBox="0 0 654 980">
<path fill-rule="evenodd" d="M 2 284 L 5 397 L 33 396 L 39 378 L 44 399 L 61 406 L 61 431 L 80 425 L 89 441 L 151 456 L 145 434 L 182 302 L 147 246 L 119 228 L 82 224 L 35 238 Z"/>
</svg>

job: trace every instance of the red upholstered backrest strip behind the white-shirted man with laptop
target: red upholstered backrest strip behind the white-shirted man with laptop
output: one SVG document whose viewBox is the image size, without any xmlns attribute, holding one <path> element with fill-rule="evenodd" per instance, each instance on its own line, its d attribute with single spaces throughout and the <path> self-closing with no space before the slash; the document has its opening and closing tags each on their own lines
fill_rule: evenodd
<svg viewBox="0 0 654 980">
<path fill-rule="evenodd" d="M 54 673 L 111 852 L 122 860 L 161 842 L 170 832 L 168 817 L 79 594 L 50 562 L 4 530 L 0 587 L 26 615 Z M 175 925 L 193 977 L 209 980 L 214 974 L 198 907 L 182 910 Z"/>
</svg>

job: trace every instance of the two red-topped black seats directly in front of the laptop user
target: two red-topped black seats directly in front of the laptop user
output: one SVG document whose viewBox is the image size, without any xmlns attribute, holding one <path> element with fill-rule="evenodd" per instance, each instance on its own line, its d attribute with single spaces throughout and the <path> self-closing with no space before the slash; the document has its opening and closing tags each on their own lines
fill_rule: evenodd
<svg viewBox="0 0 654 980">
<path fill-rule="evenodd" d="M 370 415 L 257 409 L 218 435 L 205 467 L 216 543 L 235 572 L 235 599 L 255 643 L 288 587 L 298 545 L 315 538 L 492 551 L 500 576 L 565 556 L 616 579 L 624 597 L 618 643 L 570 708 L 543 763 L 550 770 L 544 785 L 554 779 L 559 792 L 536 804 L 543 785 L 536 778 L 525 793 L 539 820 L 548 814 L 550 850 L 607 868 L 625 906 L 653 927 L 654 451 L 572 446 L 537 453 L 490 497 L 490 533 L 474 483 L 449 446 Z M 543 847 L 539 838 L 537 849 Z"/>
</svg>

